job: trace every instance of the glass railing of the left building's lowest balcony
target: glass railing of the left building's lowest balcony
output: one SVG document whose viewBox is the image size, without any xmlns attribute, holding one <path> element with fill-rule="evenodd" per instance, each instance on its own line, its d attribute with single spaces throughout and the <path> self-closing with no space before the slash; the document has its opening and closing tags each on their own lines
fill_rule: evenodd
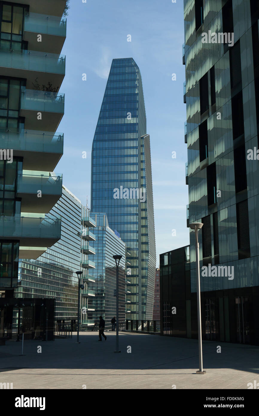
<svg viewBox="0 0 259 416">
<path fill-rule="evenodd" d="M 61 218 L 47 214 L 42 218 L 33 214 L 23 216 L 0 216 L 0 235 L 17 238 L 54 238 L 59 239 Z"/>
</svg>

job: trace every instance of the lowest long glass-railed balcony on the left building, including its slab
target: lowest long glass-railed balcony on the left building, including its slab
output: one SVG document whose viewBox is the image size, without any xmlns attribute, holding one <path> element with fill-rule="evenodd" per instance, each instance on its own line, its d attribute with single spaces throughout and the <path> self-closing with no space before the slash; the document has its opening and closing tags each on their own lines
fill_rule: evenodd
<svg viewBox="0 0 259 416">
<path fill-rule="evenodd" d="M 42 218 L 22 213 L 20 216 L 0 216 L 2 240 L 20 240 L 24 247 L 51 247 L 60 239 L 61 218 L 44 215 Z"/>
</svg>

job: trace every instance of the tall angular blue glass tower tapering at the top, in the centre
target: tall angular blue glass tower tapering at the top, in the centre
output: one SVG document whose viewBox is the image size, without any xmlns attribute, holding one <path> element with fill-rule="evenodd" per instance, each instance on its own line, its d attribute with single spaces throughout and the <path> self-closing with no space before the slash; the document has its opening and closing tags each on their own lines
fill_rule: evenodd
<svg viewBox="0 0 259 416">
<path fill-rule="evenodd" d="M 113 59 L 92 146 L 91 210 L 105 212 L 126 243 L 131 312 L 152 319 L 155 230 L 150 140 L 141 74 L 132 58 Z M 114 253 L 116 254 L 116 253 Z"/>
</svg>

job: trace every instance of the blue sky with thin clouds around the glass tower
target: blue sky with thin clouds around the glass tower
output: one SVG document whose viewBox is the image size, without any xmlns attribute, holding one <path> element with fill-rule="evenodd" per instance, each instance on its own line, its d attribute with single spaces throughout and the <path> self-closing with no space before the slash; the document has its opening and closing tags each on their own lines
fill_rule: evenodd
<svg viewBox="0 0 259 416">
<path fill-rule="evenodd" d="M 58 128 L 64 132 L 64 155 L 55 171 L 63 173 L 64 185 L 85 205 L 88 195 L 90 204 L 91 146 L 111 62 L 132 57 L 141 71 L 150 134 L 157 266 L 160 253 L 189 244 L 183 42 L 181 0 L 70 1 L 62 50 L 66 76 L 60 89 L 65 114 Z"/>
</svg>

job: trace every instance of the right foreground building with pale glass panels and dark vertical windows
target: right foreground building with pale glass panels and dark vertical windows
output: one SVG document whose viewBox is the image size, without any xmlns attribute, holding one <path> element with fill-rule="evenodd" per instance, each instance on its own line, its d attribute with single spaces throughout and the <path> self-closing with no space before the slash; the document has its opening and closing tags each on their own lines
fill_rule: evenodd
<svg viewBox="0 0 259 416">
<path fill-rule="evenodd" d="M 185 0 L 189 223 L 204 337 L 259 344 L 257 1 Z M 191 292 L 196 292 L 190 231 Z"/>
</svg>

